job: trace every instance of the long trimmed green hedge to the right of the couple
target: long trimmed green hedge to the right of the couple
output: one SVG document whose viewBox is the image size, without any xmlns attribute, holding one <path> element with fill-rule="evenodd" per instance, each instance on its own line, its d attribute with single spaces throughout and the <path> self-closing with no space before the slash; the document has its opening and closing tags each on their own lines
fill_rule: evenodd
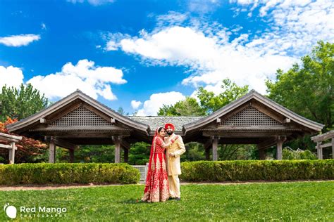
<svg viewBox="0 0 334 222">
<path fill-rule="evenodd" d="M 198 161 L 181 168 L 183 181 L 334 179 L 334 159 Z"/>
</svg>

